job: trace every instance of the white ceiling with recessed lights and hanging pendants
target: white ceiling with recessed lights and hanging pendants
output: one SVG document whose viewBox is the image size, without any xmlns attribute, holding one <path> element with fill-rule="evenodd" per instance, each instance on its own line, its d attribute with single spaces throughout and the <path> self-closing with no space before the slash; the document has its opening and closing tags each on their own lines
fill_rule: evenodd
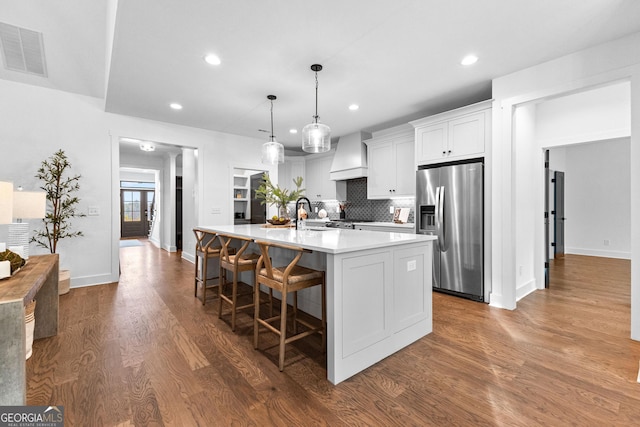
<svg viewBox="0 0 640 427">
<path fill-rule="evenodd" d="M 3 1 L 0 21 L 43 33 L 49 77 L 0 78 L 264 140 L 274 94 L 275 135 L 295 148 L 288 130 L 314 114 L 311 64 L 324 66 L 318 113 L 338 137 L 488 99 L 495 77 L 640 31 L 638 0 L 135 0 L 113 19 L 114 5 Z M 464 67 L 468 53 L 480 60 Z"/>
</svg>

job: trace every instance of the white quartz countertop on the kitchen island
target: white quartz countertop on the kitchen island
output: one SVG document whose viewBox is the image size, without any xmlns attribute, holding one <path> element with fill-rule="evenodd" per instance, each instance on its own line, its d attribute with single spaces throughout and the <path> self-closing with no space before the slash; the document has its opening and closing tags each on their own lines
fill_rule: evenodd
<svg viewBox="0 0 640 427">
<path fill-rule="evenodd" d="M 383 223 L 387 224 L 387 223 Z M 275 243 L 301 246 L 329 254 L 356 252 L 385 246 L 399 246 L 435 240 L 423 234 L 387 233 L 380 231 L 349 230 L 341 228 L 311 227 L 266 228 L 261 224 L 198 226 L 200 230 L 224 233 L 230 236 L 249 237 Z"/>
</svg>

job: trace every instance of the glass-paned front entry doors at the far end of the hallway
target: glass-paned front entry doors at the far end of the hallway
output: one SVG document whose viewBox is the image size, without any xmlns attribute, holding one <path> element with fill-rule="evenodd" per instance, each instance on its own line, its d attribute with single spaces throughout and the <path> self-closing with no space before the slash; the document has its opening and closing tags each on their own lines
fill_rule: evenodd
<svg viewBox="0 0 640 427">
<path fill-rule="evenodd" d="M 153 196 L 153 191 L 120 190 L 121 237 L 148 236 Z"/>
</svg>

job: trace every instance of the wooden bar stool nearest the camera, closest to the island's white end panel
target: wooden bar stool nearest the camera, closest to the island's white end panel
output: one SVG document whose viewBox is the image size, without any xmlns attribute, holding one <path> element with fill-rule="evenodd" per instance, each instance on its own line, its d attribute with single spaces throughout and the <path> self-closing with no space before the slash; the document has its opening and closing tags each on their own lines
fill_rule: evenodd
<svg viewBox="0 0 640 427">
<path fill-rule="evenodd" d="M 258 348 L 258 330 L 264 326 L 269 331 L 280 337 L 279 345 L 279 368 L 284 369 L 285 345 L 314 333 L 322 334 L 322 349 L 326 348 L 327 342 L 327 294 L 325 272 L 313 270 L 311 268 L 297 265 L 303 253 L 310 253 L 310 250 L 297 246 L 277 244 L 272 242 L 258 241 L 256 244 L 260 248 L 260 259 L 256 266 L 256 284 L 254 286 L 254 319 L 253 319 L 253 346 Z M 283 248 L 296 252 L 293 260 L 285 267 L 273 267 L 269 257 L 269 248 Z M 259 301 L 260 285 L 267 286 L 270 290 L 275 289 L 281 292 L 280 315 L 271 316 L 268 319 L 260 318 Z M 320 325 L 313 325 L 303 319 L 298 319 L 298 291 L 312 286 L 322 286 L 322 319 Z M 287 337 L 287 295 L 293 293 L 293 335 Z M 279 328 L 271 325 L 279 320 Z M 297 324 L 306 327 L 303 332 L 297 332 Z"/>
</svg>

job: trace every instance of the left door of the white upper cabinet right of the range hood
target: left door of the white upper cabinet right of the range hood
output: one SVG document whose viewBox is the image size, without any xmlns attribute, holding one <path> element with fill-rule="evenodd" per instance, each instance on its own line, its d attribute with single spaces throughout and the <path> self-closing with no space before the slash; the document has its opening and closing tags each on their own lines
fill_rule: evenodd
<svg viewBox="0 0 640 427">
<path fill-rule="evenodd" d="M 367 155 L 367 198 L 388 199 L 392 196 L 391 190 L 395 186 L 395 163 L 392 161 L 391 141 L 370 146 Z"/>
</svg>

